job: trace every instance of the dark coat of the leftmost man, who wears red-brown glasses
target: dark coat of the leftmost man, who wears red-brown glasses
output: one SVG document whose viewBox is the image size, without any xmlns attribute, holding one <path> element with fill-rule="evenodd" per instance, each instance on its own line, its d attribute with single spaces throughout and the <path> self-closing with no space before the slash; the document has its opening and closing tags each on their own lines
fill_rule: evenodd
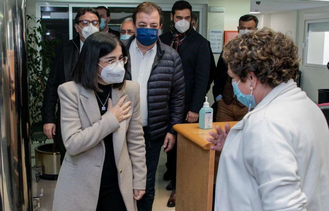
<svg viewBox="0 0 329 211">
<path fill-rule="evenodd" d="M 57 88 L 61 84 L 71 81 L 71 71 L 77 62 L 80 50 L 80 37 L 58 45 L 55 48 L 54 66 L 50 70 L 46 90 L 43 94 L 42 124 L 56 124 L 55 143 L 64 150 L 60 126 L 60 102 Z M 57 113 L 55 115 L 57 105 Z"/>
</svg>

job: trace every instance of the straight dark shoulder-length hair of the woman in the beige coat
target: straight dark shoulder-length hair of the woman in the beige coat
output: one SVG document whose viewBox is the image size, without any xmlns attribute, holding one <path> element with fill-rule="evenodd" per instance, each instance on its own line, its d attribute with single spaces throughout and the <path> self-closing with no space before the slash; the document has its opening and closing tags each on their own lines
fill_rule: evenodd
<svg viewBox="0 0 329 211">
<path fill-rule="evenodd" d="M 99 77 L 98 59 L 111 53 L 117 45 L 121 46 L 123 56 L 127 56 L 125 47 L 114 34 L 104 32 L 91 34 L 84 42 L 78 61 L 72 71 L 72 81 L 85 88 L 100 91 L 97 84 L 97 77 Z M 124 85 L 125 80 L 119 84 L 113 84 L 113 87 L 122 89 Z"/>
</svg>

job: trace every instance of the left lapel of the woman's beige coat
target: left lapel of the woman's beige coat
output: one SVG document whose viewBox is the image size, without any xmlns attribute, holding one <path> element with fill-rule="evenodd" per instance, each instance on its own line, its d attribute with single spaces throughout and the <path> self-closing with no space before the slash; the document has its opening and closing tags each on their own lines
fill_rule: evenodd
<svg viewBox="0 0 329 211">
<path fill-rule="evenodd" d="M 90 125 L 99 121 L 101 119 L 101 113 L 99 112 L 95 92 L 82 86 L 80 100 L 86 111 Z"/>
</svg>

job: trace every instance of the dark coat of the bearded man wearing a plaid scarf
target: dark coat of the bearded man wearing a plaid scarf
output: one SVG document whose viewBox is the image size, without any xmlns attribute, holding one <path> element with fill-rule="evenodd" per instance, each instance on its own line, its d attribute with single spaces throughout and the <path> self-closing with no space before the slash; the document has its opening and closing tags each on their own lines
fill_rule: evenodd
<svg viewBox="0 0 329 211">
<path fill-rule="evenodd" d="M 160 36 L 161 41 L 171 44 L 170 31 Z M 185 114 L 188 111 L 199 113 L 205 101 L 210 73 L 210 50 L 208 41 L 195 30 L 191 30 L 177 49 L 183 64 L 186 96 Z"/>
</svg>

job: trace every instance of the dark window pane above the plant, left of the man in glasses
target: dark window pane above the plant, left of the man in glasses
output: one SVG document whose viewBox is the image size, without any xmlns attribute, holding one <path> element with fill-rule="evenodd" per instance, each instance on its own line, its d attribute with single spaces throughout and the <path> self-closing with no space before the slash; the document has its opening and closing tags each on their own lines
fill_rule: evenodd
<svg viewBox="0 0 329 211">
<path fill-rule="evenodd" d="M 47 29 L 43 37 L 69 40 L 68 7 L 41 7 L 41 19 Z"/>
</svg>

